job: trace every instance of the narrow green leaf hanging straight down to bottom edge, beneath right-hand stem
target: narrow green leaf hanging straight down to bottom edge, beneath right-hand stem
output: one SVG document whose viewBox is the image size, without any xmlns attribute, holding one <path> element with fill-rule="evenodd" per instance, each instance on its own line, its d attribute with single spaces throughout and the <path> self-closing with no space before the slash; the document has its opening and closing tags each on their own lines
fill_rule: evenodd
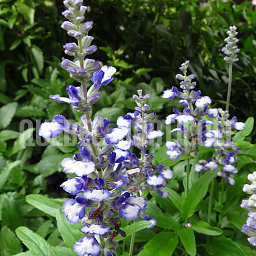
<svg viewBox="0 0 256 256">
<path fill-rule="evenodd" d="M 196 255 L 196 238 L 194 237 L 194 232 L 191 227 L 178 230 L 178 235 L 185 247 L 186 252 L 191 255 Z"/>
</svg>

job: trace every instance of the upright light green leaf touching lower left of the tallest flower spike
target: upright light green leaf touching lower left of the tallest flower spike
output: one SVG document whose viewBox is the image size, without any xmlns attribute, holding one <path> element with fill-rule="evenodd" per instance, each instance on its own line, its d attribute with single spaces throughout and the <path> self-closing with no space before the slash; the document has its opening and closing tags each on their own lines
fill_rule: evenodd
<svg viewBox="0 0 256 256">
<path fill-rule="evenodd" d="M 57 227 L 63 241 L 68 247 L 73 248 L 73 243 L 78 241 L 84 233 L 80 232 L 82 225 L 80 223 L 72 224 L 63 215 L 62 210 L 56 212 Z"/>
</svg>

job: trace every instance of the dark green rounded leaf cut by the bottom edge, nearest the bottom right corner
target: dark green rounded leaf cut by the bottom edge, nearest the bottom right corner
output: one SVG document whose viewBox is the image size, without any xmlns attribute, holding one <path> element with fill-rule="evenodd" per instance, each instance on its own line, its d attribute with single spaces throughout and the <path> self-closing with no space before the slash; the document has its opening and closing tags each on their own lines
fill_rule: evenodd
<svg viewBox="0 0 256 256">
<path fill-rule="evenodd" d="M 229 238 L 217 237 L 214 238 L 210 243 L 204 244 L 206 251 L 212 255 L 221 256 L 244 256 L 245 254 L 241 251 L 233 241 Z"/>
</svg>

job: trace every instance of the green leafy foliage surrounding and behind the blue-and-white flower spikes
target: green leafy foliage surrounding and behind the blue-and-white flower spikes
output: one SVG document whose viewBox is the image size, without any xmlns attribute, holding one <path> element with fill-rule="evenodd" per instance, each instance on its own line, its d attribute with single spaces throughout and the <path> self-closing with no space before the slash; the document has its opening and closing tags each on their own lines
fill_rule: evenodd
<svg viewBox="0 0 256 256">
<path fill-rule="evenodd" d="M 165 118 L 177 101 L 166 101 L 160 95 L 165 88 L 177 86 L 175 74 L 185 60 L 190 60 L 190 71 L 196 74 L 202 94 L 210 96 L 216 106 L 224 107 L 228 74 L 220 52 L 227 28 L 235 24 L 241 52 L 239 62 L 233 67 L 230 113 L 240 121 L 254 116 L 256 12 L 249 1 L 242 4 L 207 2 L 86 1 L 91 7 L 87 20 L 94 21 L 92 34 L 99 47 L 94 57 L 118 69 L 93 114 L 108 117 L 115 123 L 119 115 L 134 108 L 131 96 L 141 88 L 151 94 L 152 111 L 158 118 Z M 69 40 L 60 29 L 63 10 L 59 0 L 0 0 L 0 102 L 3 105 L 0 108 L 0 254 L 4 256 L 40 255 L 40 250 L 47 252 L 41 255 L 74 255 L 66 245 L 71 247 L 81 236 L 78 228 L 74 233 L 67 232 L 73 229 L 69 229 L 70 224 L 59 212 L 63 197 L 67 196 L 59 188 L 65 180 L 60 162 L 75 148 L 52 146 L 51 141 L 48 146 L 26 147 L 21 140 L 33 138 L 35 142 L 38 130 L 26 128 L 21 137 L 19 134 L 22 119 L 30 119 L 34 127 L 37 119 L 51 119 L 59 113 L 70 119 L 76 115 L 79 120 L 68 105 L 48 98 L 49 94 L 64 95 L 65 86 L 73 84 L 73 79 L 60 68 L 64 56 L 62 45 Z M 207 218 L 210 177 L 191 172 L 191 191 L 197 191 L 202 183 L 204 187 L 197 204 L 189 208 L 188 199 L 183 204 L 184 198 L 178 194 L 185 169 L 185 162 L 181 160 L 174 166 L 174 179 L 168 184 L 169 199 L 149 194 L 147 211 L 157 218 L 157 227 L 144 229 L 143 221 L 137 226 L 137 230 L 141 230 L 136 235 L 135 253 L 165 255 L 163 253 L 169 251 L 171 255 L 175 250 L 174 255 L 186 255 L 185 251 L 195 255 L 197 241 L 197 255 L 256 255 L 246 236 L 240 233 L 246 220 L 246 212 L 240 208 L 241 199 L 245 197 L 241 191 L 247 173 L 254 171 L 256 158 L 256 148 L 251 144 L 255 142 L 256 133 L 252 130 L 252 118 L 248 119 L 247 126 L 249 129 L 240 133 L 246 141 L 238 138 L 243 148 L 238 162 L 240 173 L 236 176 L 236 185 L 227 187 L 224 206 L 218 204 L 219 184 L 215 183 L 212 226 L 202 221 Z M 152 151 L 156 151 L 158 163 L 174 165 L 165 155 L 165 148 L 156 146 Z M 224 222 L 218 226 L 216 216 L 221 210 Z M 193 227 L 182 229 L 180 223 L 188 216 L 192 216 Z M 122 223 L 126 231 L 132 229 L 132 224 L 128 224 Z M 205 234 L 212 238 L 205 240 Z M 29 242 L 29 237 L 34 243 Z M 124 251 L 129 239 L 130 236 L 120 242 Z M 24 245 L 30 252 L 20 254 L 26 251 Z M 119 247 L 118 255 L 122 252 Z"/>
</svg>

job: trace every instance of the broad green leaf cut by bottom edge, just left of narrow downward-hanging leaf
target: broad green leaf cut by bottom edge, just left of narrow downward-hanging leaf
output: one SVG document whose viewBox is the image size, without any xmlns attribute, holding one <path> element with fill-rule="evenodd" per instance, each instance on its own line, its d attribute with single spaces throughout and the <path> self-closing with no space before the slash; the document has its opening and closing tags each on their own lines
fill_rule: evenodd
<svg viewBox="0 0 256 256">
<path fill-rule="evenodd" d="M 148 243 L 145 244 L 144 249 L 138 256 L 163 256 L 172 255 L 178 244 L 178 237 L 176 233 L 160 232 L 155 235 Z"/>
</svg>

